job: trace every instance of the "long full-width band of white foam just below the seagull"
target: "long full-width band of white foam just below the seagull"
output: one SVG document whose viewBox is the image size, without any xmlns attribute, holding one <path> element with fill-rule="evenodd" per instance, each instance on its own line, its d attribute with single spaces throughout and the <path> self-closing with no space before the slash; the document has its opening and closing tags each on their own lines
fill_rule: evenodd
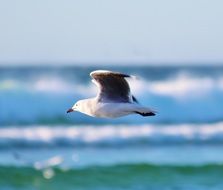
<svg viewBox="0 0 223 190">
<path fill-rule="evenodd" d="M 223 143 L 223 123 L 141 126 L 1 128 L 0 146 Z"/>
</svg>

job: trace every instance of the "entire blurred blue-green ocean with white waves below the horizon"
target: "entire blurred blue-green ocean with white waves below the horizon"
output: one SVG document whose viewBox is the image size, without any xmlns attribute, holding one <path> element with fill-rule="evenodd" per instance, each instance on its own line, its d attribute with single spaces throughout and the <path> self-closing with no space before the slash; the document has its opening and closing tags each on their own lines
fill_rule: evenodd
<svg viewBox="0 0 223 190">
<path fill-rule="evenodd" d="M 67 114 L 97 93 L 89 73 L 129 79 L 155 117 Z M 0 67 L 0 189 L 223 189 L 223 66 Z"/>
</svg>

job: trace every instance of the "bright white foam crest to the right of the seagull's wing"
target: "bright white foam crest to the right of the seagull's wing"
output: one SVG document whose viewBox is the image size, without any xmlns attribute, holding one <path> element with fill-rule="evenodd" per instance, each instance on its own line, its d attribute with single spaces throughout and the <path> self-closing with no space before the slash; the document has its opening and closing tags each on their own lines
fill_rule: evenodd
<svg viewBox="0 0 223 190">
<path fill-rule="evenodd" d="M 131 81 L 134 92 L 152 93 L 175 98 L 196 98 L 212 91 L 223 91 L 223 78 L 196 78 L 179 74 L 175 78 L 163 81 Z"/>
</svg>

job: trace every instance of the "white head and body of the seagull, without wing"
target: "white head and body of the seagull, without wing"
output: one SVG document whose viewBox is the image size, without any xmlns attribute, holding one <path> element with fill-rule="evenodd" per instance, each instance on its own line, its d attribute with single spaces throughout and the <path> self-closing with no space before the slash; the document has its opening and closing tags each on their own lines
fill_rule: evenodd
<svg viewBox="0 0 223 190">
<path fill-rule="evenodd" d="M 148 113 L 151 109 L 135 103 L 99 102 L 97 98 L 84 99 L 77 102 L 78 111 L 92 117 L 116 118 L 129 114 Z M 76 106 L 72 108 L 76 109 Z"/>
</svg>

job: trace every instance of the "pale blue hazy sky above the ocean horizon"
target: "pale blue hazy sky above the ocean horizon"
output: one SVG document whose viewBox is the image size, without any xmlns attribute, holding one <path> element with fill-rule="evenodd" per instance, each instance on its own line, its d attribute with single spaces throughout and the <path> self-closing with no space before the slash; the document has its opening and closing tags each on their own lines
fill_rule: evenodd
<svg viewBox="0 0 223 190">
<path fill-rule="evenodd" d="M 223 62 L 221 0 L 0 0 L 0 64 Z"/>
</svg>

